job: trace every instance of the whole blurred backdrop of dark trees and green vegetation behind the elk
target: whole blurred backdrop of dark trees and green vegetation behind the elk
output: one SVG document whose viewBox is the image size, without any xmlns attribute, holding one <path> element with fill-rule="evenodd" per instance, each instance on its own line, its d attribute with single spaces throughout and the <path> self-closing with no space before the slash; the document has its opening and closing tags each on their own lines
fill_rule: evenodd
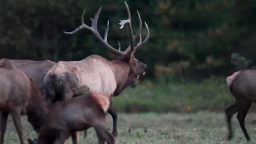
<svg viewBox="0 0 256 144">
<path fill-rule="evenodd" d="M 118 111 L 223 110 L 234 99 L 225 77 L 256 69 L 255 0 L 127 0 L 134 33 L 139 11 L 150 37 L 135 56 L 148 65 L 135 88 L 114 99 Z M 81 60 L 91 54 L 108 57 L 107 49 L 81 25 L 91 25 L 102 7 L 98 31 L 121 50 L 129 45 L 124 0 L 1 0 L 0 58 Z M 142 37 L 146 30 L 143 25 Z M 164 104 L 164 105 L 163 105 Z"/>
</svg>

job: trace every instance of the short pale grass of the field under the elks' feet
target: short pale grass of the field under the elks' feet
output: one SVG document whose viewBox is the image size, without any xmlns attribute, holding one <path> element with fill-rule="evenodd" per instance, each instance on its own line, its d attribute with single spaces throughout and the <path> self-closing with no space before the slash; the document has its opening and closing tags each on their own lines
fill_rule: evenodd
<svg viewBox="0 0 256 144">
<path fill-rule="evenodd" d="M 246 117 L 246 128 L 256 143 L 256 113 Z M 30 124 L 23 117 L 24 137 L 35 138 Z M 106 125 L 111 130 L 112 118 L 106 117 Z M 144 128 L 147 127 L 147 132 Z M 129 133 L 129 128 L 131 133 Z M 246 143 L 236 116 L 233 117 L 234 138 L 226 140 L 226 121 L 224 113 L 198 111 L 190 114 L 118 114 L 118 138 L 116 144 L 238 144 Z M 88 137 L 80 133 L 81 144 L 97 144 L 95 131 L 90 128 Z M 19 144 L 19 139 L 11 121 L 8 121 L 6 144 Z M 72 144 L 70 139 L 67 144 Z"/>
</svg>

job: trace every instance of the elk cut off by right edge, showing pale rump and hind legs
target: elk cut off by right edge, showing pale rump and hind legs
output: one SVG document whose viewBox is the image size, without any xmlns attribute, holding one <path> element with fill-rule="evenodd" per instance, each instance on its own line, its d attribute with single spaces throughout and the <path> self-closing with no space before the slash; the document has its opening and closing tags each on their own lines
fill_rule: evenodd
<svg viewBox="0 0 256 144">
<path fill-rule="evenodd" d="M 233 94 L 234 98 L 236 98 L 236 103 L 231 105 L 229 108 L 226 108 L 229 139 L 233 137 L 231 118 L 238 111 L 236 118 L 240 123 L 240 127 L 246 137 L 246 140 L 250 140 L 244 125 L 244 120 L 252 102 L 256 102 L 255 82 L 256 70 L 241 70 L 234 72 L 233 75 L 230 75 L 226 78 L 226 83 L 230 88 L 230 92 Z"/>
</svg>

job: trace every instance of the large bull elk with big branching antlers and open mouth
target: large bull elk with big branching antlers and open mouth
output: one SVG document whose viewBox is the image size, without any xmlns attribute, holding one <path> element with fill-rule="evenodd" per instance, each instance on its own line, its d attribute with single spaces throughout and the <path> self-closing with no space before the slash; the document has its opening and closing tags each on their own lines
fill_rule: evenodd
<svg viewBox="0 0 256 144">
<path fill-rule="evenodd" d="M 97 39 L 104 44 L 111 52 L 116 55 L 111 55 L 112 60 L 109 61 L 98 55 L 91 55 L 80 61 L 64 62 L 60 61 L 54 65 L 46 74 L 44 79 L 46 88 L 46 99 L 49 105 L 55 101 L 65 101 L 72 97 L 81 94 L 99 93 L 111 98 L 112 96 L 118 96 L 127 86 L 134 85 L 138 82 L 140 75 L 144 75 L 144 70 L 147 69 L 146 64 L 138 61 L 134 54 L 143 46 L 149 37 L 149 29 L 147 24 L 146 38 L 141 42 L 141 18 L 139 17 L 139 29 L 138 32 L 133 35 L 131 27 L 131 14 L 128 5 L 125 3 L 128 20 L 122 20 L 119 24 L 122 28 L 125 23 L 128 23 L 131 43 L 130 46 L 124 51 L 114 49 L 107 43 L 108 24 L 105 31 L 104 39 L 99 35 L 97 30 L 97 21 L 101 8 L 96 13 L 92 20 L 92 26 L 89 27 L 83 22 L 85 11 L 82 14 L 82 25 L 68 34 L 74 34 L 80 29 L 87 29 L 91 31 Z M 138 11 L 137 11 L 138 12 Z M 66 32 L 65 32 L 66 33 Z M 137 46 L 134 46 L 135 39 L 140 36 L 140 41 Z M 117 114 L 110 106 L 108 113 L 113 118 L 113 132 L 114 136 L 117 136 L 116 123 Z"/>
</svg>

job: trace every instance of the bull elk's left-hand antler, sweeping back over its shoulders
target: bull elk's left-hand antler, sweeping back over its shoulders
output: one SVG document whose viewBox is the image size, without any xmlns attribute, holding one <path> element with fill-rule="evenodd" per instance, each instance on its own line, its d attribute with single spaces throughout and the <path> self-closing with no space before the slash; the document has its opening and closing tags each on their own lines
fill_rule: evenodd
<svg viewBox="0 0 256 144">
<path fill-rule="evenodd" d="M 92 20 L 92 26 L 89 27 L 87 26 L 85 23 L 84 23 L 84 16 L 85 16 L 85 10 L 82 14 L 82 17 L 81 17 L 81 26 L 79 26 L 77 29 L 75 29 L 74 31 L 68 33 L 68 32 L 64 32 L 64 33 L 67 33 L 67 34 L 74 34 L 74 33 L 77 33 L 80 29 L 88 29 L 90 30 L 96 37 L 97 39 L 102 43 L 104 44 L 110 51 L 114 52 L 115 54 L 117 55 L 123 55 L 124 53 L 120 51 L 120 44 L 118 42 L 118 45 L 119 45 L 119 50 L 113 48 L 112 46 L 110 46 L 108 43 L 107 43 L 107 37 L 108 37 L 108 25 L 109 25 L 109 22 L 107 23 L 107 28 L 105 30 L 105 36 L 104 36 L 104 39 L 102 39 L 102 37 L 100 36 L 100 34 L 98 33 L 98 30 L 97 30 L 97 21 L 98 21 L 98 16 L 101 12 L 101 9 L 102 7 L 99 8 L 98 12 L 96 13 L 94 19 L 91 19 Z"/>
</svg>

